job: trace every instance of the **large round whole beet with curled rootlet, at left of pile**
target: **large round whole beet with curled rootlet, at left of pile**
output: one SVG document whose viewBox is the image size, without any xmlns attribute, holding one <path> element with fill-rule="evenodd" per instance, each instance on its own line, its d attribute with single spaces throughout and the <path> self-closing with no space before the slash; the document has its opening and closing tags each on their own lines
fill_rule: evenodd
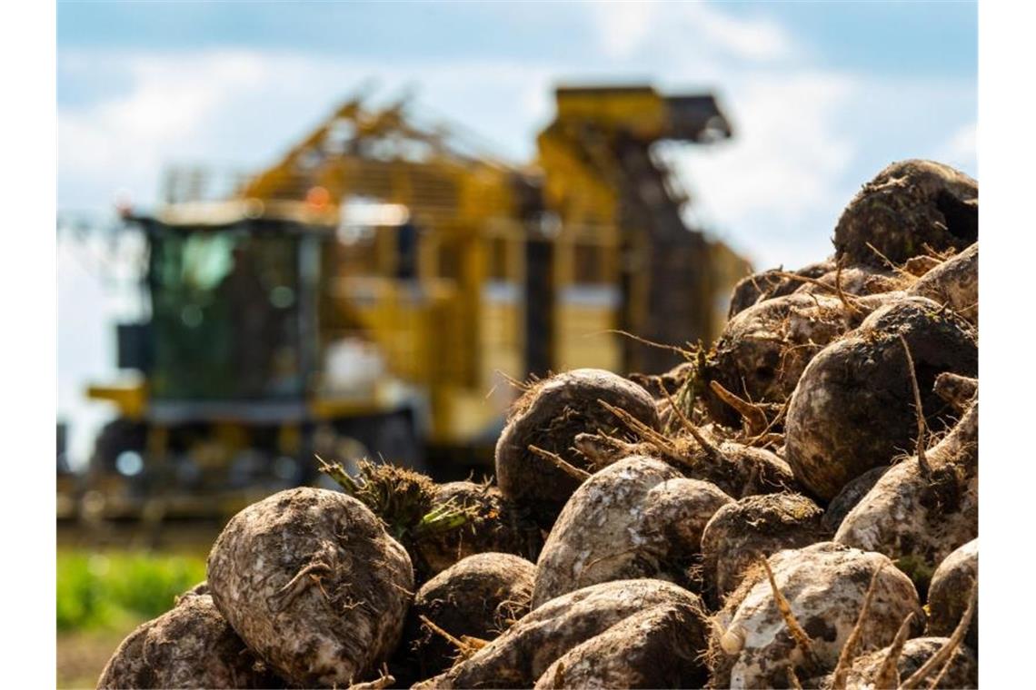
<svg viewBox="0 0 1036 690">
<path fill-rule="evenodd" d="M 237 513 L 208 557 L 212 600 L 250 649 L 303 686 L 368 680 L 413 598 L 406 550 L 338 491 L 280 491 Z"/>
</svg>

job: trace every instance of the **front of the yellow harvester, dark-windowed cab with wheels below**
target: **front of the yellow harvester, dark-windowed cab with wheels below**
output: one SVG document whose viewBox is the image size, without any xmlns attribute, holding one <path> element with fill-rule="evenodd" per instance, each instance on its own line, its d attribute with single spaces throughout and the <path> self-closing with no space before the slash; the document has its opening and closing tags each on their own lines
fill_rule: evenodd
<svg viewBox="0 0 1036 690">
<path fill-rule="evenodd" d="M 347 325 L 323 299 L 337 227 L 319 207 L 230 201 L 124 219 L 146 240 L 149 314 L 117 327 L 118 365 L 140 377 L 89 389 L 119 410 L 91 459 L 96 510 L 225 513 L 313 481 L 317 453 L 374 447 L 423 467 L 419 396 L 369 338 L 343 358 L 325 337 Z"/>
</svg>

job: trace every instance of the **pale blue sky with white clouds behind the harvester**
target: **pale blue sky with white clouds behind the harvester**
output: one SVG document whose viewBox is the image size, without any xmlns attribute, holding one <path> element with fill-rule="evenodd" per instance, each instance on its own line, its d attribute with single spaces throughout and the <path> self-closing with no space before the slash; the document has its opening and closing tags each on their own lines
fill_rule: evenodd
<svg viewBox="0 0 1036 690">
<path fill-rule="evenodd" d="M 668 150 L 688 214 L 757 268 L 829 256 L 860 185 L 902 158 L 978 177 L 974 2 L 58 3 L 58 209 L 155 203 L 163 169 L 255 171 L 367 86 L 535 155 L 557 84 L 710 90 L 735 137 Z M 59 242 L 59 414 L 108 412 L 108 245 Z M 98 276 L 109 276 L 100 279 Z M 76 459 L 76 458 L 74 458 Z"/>
</svg>

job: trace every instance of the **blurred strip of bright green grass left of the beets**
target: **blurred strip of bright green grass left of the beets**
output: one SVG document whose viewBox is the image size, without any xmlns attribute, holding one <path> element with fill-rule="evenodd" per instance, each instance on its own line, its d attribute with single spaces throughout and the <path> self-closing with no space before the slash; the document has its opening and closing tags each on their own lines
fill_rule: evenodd
<svg viewBox="0 0 1036 690">
<path fill-rule="evenodd" d="M 124 627 L 169 610 L 205 579 L 200 556 L 58 551 L 58 630 Z"/>
</svg>

